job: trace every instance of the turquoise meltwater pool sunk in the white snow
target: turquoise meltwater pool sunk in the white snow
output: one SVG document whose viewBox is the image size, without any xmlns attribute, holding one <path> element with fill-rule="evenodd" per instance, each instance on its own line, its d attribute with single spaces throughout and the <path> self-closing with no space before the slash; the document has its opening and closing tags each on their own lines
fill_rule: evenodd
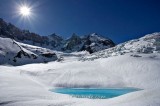
<svg viewBox="0 0 160 106">
<path fill-rule="evenodd" d="M 52 92 L 68 94 L 77 98 L 90 98 L 90 99 L 107 99 L 120 96 L 126 93 L 138 91 L 137 88 L 56 88 Z"/>
</svg>

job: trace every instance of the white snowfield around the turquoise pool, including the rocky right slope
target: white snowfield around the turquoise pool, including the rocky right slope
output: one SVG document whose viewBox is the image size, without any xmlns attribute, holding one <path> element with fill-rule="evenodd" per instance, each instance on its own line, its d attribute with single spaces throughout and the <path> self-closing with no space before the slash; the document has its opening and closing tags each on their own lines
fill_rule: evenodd
<svg viewBox="0 0 160 106">
<path fill-rule="evenodd" d="M 0 106 L 160 106 L 159 38 L 154 33 L 92 55 L 57 52 L 63 57 L 60 61 L 1 65 Z M 142 90 L 110 99 L 87 99 L 50 91 L 57 87 Z"/>
</svg>

